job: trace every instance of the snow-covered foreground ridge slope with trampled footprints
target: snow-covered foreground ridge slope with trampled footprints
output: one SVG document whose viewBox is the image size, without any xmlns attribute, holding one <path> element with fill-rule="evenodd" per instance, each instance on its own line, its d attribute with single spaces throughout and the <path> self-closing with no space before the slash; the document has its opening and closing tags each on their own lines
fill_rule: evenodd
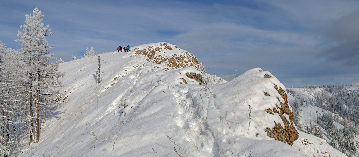
<svg viewBox="0 0 359 157">
<path fill-rule="evenodd" d="M 312 157 L 327 150 L 301 132 L 289 145 L 296 138 L 288 129 L 296 129 L 283 112 L 291 112 L 286 88 L 268 71 L 254 68 L 227 82 L 135 51 L 100 56 L 99 84 L 97 57 L 60 64 L 64 103 L 20 156 Z M 280 127 L 285 131 L 273 134 L 283 142 L 269 137 Z M 326 154 L 339 156 L 332 151 Z"/>
</svg>

